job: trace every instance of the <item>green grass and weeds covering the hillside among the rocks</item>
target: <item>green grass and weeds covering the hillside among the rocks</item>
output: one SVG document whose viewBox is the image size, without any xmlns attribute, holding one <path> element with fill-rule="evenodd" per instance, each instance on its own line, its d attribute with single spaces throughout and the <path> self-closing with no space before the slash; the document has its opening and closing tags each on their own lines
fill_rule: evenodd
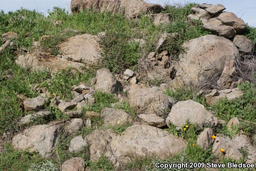
<svg viewBox="0 0 256 171">
<path fill-rule="evenodd" d="M 0 136 L 4 133 L 7 139 L 11 139 L 12 135 L 17 133 L 21 127 L 18 125 L 19 119 L 25 115 L 20 106 L 20 99 L 17 95 L 26 97 L 37 97 L 39 95 L 33 88 L 46 88 L 52 97 L 60 96 L 61 99 L 72 99 L 72 86 L 79 83 L 90 84 L 91 78 L 95 76 L 95 70 L 99 67 L 107 67 L 113 73 L 121 73 L 127 68 L 138 70 L 138 61 L 141 57 L 147 56 L 149 52 L 156 52 L 155 42 L 162 33 L 179 33 L 176 38 L 169 39 L 166 46 L 162 50 L 168 50 L 169 55 L 178 59 L 179 54 L 185 49 L 181 47 L 184 41 L 200 37 L 210 32 L 203 30 L 202 23 L 199 21 L 189 22 L 187 15 L 191 14 L 191 7 L 194 4 L 188 4 L 184 7 L 167 6 L 162 12 L 170 13 L 172 22 L 167 25 L 154 26 L 152 19 L 147 15 L 140 15 L 139 19 L 128 20 L 124 15 L 112 14 L 109 12 L 100 13 L 97 11 L 82 11 L 68 14 L 67 11 L 60 8 L 54 8 L 49 11 L 49 16 L 26 9 L 20 9 L 15 12 L 5 14 L 0 11 L 0 35 L 9 31 L 19 34 L 19 38 L 14 40 L 14 47 L 6 48 L 0 54 Z M 62 21 L 62 24 L 54 26 L 56 21 Z M 41 42 L 42 50 L 50 52 L 53 55 L 61 54 L 57 45 L 73 36 L 72 33 L 62 35 L 64 29 L 71 28 L 79 31 L 79 34 L 89 33 L 97 35 L 99 32 L 106 32 L 106 36 L 101 38 L 103 60 L 101 65 L 96 66 L 93 70 L 85 69 L 84 73 L 67 68 L 57 72 L 53 77 L 49 71 L 31 71 L 30 68 L 21 68 L 15 64 L 19 52 L 23 54 L 22 49 L 32 50 L 32 42 L 40 41 L 43 35 L 53 35 L 54 39 L 48 39 Z M 30 34 L 30 36 L 26 36 Z M 248 31 L 244 34 L 253 42 L 256 41 L 255 28 L 248 27 Z M 143 47 L 139 47 L 139 43 L 133 42 L 134 38 L 144 39 L 146 41 Z M 0 39 L 0 45 L 3 42 Z M 18 54 L 19 54 L 18 53 Z M 157 52 L 158 53 L 158 52 Z M 163 80 L 150 80 L 152 85 L 160 85 Z M 166 90 L 166 94 L 177 100 L 192 99 L 203 104 L 207 109 L 214 110 L 219 119 L 228 122 L 233 117 L 241 120 L 240 125 L 228 128 L 226 124 L 222 125 L 222 129 L 215 129 L 217 134 L 225 134 L 233 137 L 240 130 L 243 130 L 250 137 L 255 135 L 255 124 L 248 122 L 256 122 L 255 118 L 255 101 L 256 89 L 255 85 L 245 83 L 239 85 L 245 94 L 237 100 L 220 100 L 212 107 L 206 104 L 203 96 L 197 96 L 197 91 L 192 88 L 177 89 L 175 92 Z M 114 108 L 122 109 L 132 115 L 133 120 L 138 119 L 134 108 L 124 101 L 118 103 L 118 98 L 113 94 L 96 91 L 94 93 L 95 103 L 88 105 L 83 109 L 83 114 L 87 111 L 101 112 L 103 108 L 110 108 L 111 104 L 117 103 Z M 52 113 L 51 117 L 46 120 L 36 119 L 32 124 L 41 124 L 52 121 L 54 119 L 65 120 L 68 116 L 60 112 L 56 107 L 49 107 L 49 101 L 46 109 Z M 82 116 L 83 118 L 85 115 Z M 113 170 L 114 167 L 105 156 L 102 156 L 96 162 L 89 161 L 88 148 L 80 153 L 68 152 L 70 140 L 76 135 L 86 135 L 92 133 L 95 129 L 112 129 L 114 133 L 121 134 L 126 130 L 130 123 L 119 126 L 103 126 L 103 120 L 100 117 L 90 118 L 93 127 L 84 127 L 70 136 L 60 134 L 60 139 L 54 151 L 54 156 L 44 159 L 37 153 L 30 153 L 28 150 L 23 152 L 12 149 L 10 144 L 4 145 L 4 152 L 0 156 L 0 170 L 37 170 L 40 167 L 51 167 L 55 170 L 58 162 L 64 162 L 72 156 L 81 156 L 86 161 L 86 166 L 90 170 Z M 244 120 L 244 121 L 243 121 Z M 248 122 L 246 122 L 248 121 Z M 211 153 L 211 147 L 206 150 L 199 146 L 192 146 L 196 142 L 197 136 L 202 131 L 193 124 L 188 124 L 187 130 L 177 131 L 174 127 L 168 129 L 170 133 L 184 138 L 188 142 L 188 146 L 181 154 L 173 157 L 159 160 L 154 157 L 146 157 L 142 159 L 132 159 L 127 165 L 122 166 L 123 170 L 152 170 L 154 163 L 181 163 L 181 162 L 227 162 L 230 159 L 218 159 Z M 244 157 L 245 149 L 241 149 Z"/>
</svg>

